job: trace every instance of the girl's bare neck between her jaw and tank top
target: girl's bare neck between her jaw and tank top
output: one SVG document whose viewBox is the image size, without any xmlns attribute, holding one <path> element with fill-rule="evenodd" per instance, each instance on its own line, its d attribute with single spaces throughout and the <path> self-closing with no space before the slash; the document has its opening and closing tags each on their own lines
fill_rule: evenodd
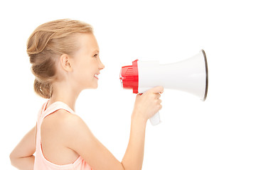
<svg viewBox="0 0 256 170">
<path fill-rule="evenodd" d="M 55 82 L 53 84 L 53 95 L 49 100 L 48 106 L 56 101 L 62 101 L 75 111 L 75 102 L 80 92 L 67 82 Z"/>
</svg>

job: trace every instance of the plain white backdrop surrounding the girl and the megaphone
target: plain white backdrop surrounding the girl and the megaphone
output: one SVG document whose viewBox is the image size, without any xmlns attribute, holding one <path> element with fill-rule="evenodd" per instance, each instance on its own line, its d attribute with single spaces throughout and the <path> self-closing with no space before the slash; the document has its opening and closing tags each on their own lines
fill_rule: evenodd
<svg viewBox="0 0 256 170">
<path fill-rule="evenodd" d="M 135 94 L 119 82 L 132 61 L 177 62 L 206 51 L 208 98 L 165 89 L 163 123 L 146 129 L 143 169 L 256 169 L 255 2 L 4 1 L 0 4 L 0 164 L 36 124 L 46 101 L 33 92 L 26 40 L 48 21 L 90 23 L 105 69 L 76 113 L 119 161 L 127 148 Z M 167 77 L 166 77 L 167 79 Z"/>
</svg>

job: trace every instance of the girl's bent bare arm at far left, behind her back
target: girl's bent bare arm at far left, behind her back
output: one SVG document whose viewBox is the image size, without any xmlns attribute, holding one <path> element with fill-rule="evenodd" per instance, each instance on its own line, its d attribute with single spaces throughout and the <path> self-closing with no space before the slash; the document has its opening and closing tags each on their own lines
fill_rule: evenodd
<svg viewBox="0 0 256 170">
<path fill-rule="evenodd" d="M 36 152 L 36 127 L 33 127 L 10 154 L 11 164 L 17 169 L 33 170 Z"/>
</svg>

